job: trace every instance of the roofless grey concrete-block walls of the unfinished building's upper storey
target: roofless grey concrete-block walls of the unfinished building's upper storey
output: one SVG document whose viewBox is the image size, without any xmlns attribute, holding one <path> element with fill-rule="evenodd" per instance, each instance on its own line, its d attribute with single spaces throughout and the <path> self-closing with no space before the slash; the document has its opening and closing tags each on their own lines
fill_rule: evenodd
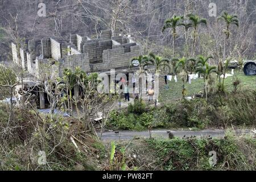
<svg viewBox="0 0 256 182">
<path fill-rule="evenodd" d="M 18 63 L 18 51 L 11 45 L 13 61 Z M 131 59 L 142 54 L 142 47 L 126 36 L 112 36 L 111 30 L 101 32 L 101 39 L 90 39 L 78 34 L 70 35 L 69 41 L 56 38 L 28 40 L 27 47 L 20 49 L 23 69 L 36 80 L 41 80 L 42 66 L 52 61 L 56 76 L 62 76 L 65 68 L 80 67 L 86 73 L 131 73 Z M 58 64 L 55 64 L 55 63 Z M 135 68 L 136 69 L 136 68 Z M 28 79 L 29 80 L 29 79 Z M 77 90 L 77 89 L 75 89 Z M 75 93 L 76 94 L 76 93 Z M 39 94 L 40 108 L 44 108 L 43 93 Z"/>
</svg>

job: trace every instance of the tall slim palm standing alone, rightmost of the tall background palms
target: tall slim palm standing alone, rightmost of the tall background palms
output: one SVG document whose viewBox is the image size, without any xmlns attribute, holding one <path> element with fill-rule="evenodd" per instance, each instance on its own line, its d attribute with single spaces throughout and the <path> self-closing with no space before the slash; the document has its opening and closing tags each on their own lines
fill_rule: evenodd
<svg viewBox="0 0 256 182">
<path fill-rule="evenodd" d="M 226 41 L 229 39 L 229 36 L 231 34 L 230 32 L 230 26 L 232 24 L 236 25 L 239 27 L 239 20 L 237 15 L 230 15 L 226 12 L 224 12 L 220 17 L 218 17 L 218 20 L 224 20 L 226 24 L 226 30 L 224 30 L 225 36 L 225 42 L 224 42 L 224 51 L 223 51 L 223 61 L 226 59 Z"/>
</svg>

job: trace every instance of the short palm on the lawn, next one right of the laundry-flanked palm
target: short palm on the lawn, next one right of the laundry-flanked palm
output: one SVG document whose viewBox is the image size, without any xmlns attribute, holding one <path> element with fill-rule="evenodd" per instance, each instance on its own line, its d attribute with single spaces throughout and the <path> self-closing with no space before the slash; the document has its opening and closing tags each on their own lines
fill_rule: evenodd
<svg viewBox="0 0 256 182">
<path fill-rule="evenodd" d="M 201 67 L 196 69 L 196 72 L 201 73 L 204 75 L 204 90 L 205 90 L 205 100 L 207 101 L 208 98 L 208 80 L 210 77 L 210 74 L 213 72 L 216 72 L 215 66 L 210 66 L 207 61 L 204 62 L 205 64 L 201 65 Z"/>
</svg>

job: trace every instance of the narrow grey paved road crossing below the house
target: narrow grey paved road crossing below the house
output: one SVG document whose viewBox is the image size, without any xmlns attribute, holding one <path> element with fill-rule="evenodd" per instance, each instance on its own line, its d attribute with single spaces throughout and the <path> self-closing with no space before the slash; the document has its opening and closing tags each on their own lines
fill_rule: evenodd
<svg viewBox="0 0 256 182">
<path fill-rule="evenodd" d="M 154 130 L 151 131 L 151 135 L 154 138 L 168 138 L 168 133 L 167 131 L 171 131 L 172 134 L 174 134 L 174 137 L 191 137 L 191 136 L 196 136 L 196 137 L 224 137 L 225 135 L 225 130 L 200 130 L 200 131 L 187 131 L 187 130 Z M 236 130 L 237 134 L 241 133 L 249 133 L 250 130 Z M 139 137 L 143 138 L 149 137 L 148 131 L 119 131 L 119 133 L 115 133 L 114 131 L 108 131 L 105 132 L 102 135 L 102 140 L 130 140 L 134 137 Z"/>
</svg>

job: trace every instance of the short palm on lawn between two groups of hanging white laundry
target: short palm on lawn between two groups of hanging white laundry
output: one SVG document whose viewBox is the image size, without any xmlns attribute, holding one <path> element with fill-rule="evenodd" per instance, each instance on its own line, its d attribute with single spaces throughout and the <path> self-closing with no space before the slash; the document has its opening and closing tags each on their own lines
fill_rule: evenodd
<svg viewBox="0 0 256 182">
<path fill-rule="evenodd" d="M 193 58 L 187 59 L 186 57 L 182 57 L 181 59 L 174 58 L 172 59 L 172 61 L 177 61 L 175 70 L 177 70 L 178 68 L 181 68 L 182 70 L 182 81 L 183 81 L 182 95 L 184 98 L 185 97 L 185 77 L 187 77 L 188 75 L 187 64 L 189 63 L 189 61 L 193 61 L 195 63 L 196 60 Z"/>
</svg>

